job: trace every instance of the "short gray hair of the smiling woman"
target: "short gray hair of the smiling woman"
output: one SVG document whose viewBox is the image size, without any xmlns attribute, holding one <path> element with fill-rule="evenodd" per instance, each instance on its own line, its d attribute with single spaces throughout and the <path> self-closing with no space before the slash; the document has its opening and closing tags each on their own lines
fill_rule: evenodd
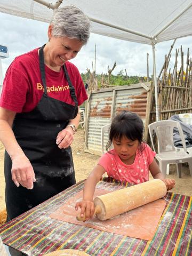
<svg viewBox="0 0 192 256">
<path fill-rule="evenodd" d="M 90 19 L 76 6 L 67 5 L 54 11 L 50 21 L 52 35 L 69 37 L 86 44 L 90 37 Z"/>
</svg>

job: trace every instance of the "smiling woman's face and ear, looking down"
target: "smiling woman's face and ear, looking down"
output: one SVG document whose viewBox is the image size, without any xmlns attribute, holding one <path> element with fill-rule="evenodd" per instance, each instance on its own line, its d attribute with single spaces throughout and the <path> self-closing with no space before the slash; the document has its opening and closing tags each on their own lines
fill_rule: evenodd
<svg viewBox="0 0 192 256">
<path fill-rule="evenodd" d="M 54 37 L 49 27 L 49 43 L 47 44 L 46 60 L 51 66 L 63 66 L 65 61 L 76 57 L 81 50 L 83 43 L 77 39 L 68 37 Z"/>
</svg>

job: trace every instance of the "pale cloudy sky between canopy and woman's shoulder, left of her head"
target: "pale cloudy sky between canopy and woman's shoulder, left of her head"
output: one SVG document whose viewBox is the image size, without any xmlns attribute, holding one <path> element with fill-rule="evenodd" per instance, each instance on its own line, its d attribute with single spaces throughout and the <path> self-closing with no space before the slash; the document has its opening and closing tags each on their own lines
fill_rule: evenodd
<svg viewBox="0 0 192 256">
<path fill-rule="evenodd" d="M 0 13 L 0 45 L 9 49 L 9 58 L 2 60 L 3 75 L 18 55 L 35 49 L 47 41 L 48 23 Z"/>
</svg>

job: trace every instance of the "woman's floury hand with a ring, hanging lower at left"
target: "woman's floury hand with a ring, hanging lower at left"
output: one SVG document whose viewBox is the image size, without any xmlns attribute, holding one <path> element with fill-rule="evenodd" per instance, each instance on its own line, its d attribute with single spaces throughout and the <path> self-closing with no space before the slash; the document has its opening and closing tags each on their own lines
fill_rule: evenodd
<svg viewBox="0 0 192 256">
<path fill-rule="evenodd" d="M 33 166 L 26 155 L 19 155 L 12 159 L 12 180 L 17 187 L 19 184 L 27 189 L 33 189 L 33 182 L 36 181 Z"/>
</svg>

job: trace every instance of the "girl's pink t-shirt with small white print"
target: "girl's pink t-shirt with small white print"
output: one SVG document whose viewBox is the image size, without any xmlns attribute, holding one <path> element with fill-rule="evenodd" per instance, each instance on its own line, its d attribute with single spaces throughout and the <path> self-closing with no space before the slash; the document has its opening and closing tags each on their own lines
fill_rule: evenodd
<svg viewBox="0 0 192 256">
<path fill-rule="evenodd" d="M 134 184 L 149 180 L 149 165 L 153 162 L 156 153 L 144 144 L 143 151 L 137 150 L 134 163 L 124 164 L 114 149 L 103 154 L 98 164 L 107 172 L 108 177 Z"/>
</svg>

